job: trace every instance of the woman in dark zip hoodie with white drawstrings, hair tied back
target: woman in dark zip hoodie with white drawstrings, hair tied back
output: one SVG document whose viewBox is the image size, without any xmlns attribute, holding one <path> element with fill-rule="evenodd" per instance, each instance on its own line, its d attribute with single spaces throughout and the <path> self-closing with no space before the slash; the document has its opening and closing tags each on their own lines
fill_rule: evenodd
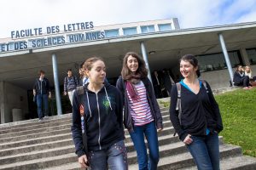
<svg viewBox="0 0 256 170">
<path fill-rule="evenodd" d="M 81 167 L 126 170 L 122 99 L 117 88 L 104 82 L 105 69 L 100 58 L 84 62 L 90 82 L 74 92 L 73 142 Z"/>
</svg>

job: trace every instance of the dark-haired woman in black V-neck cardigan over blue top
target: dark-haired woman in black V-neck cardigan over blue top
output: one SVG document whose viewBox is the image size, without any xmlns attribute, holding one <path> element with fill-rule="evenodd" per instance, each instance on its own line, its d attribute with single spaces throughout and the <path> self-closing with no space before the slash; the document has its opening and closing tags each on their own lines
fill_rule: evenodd
<svg viewBox="0 0 256 170">
<path fill-rule="evenodd" d="M 217 170 L 218 133 L 223 130 L 222 119 L 209 84 L 198 79 L 198 67 L 198 60 L 194 55 L 187 54 L 181 58 L 180 72 L 184 79 L 172 87 L 170 118 L 197 168 Z M 178 87 L 180 93 L 177 92 Z M 178 107 L 177 99 L 181 101 Z M 180 111 L 178 114 L 176 108 Z"/>
</svg>

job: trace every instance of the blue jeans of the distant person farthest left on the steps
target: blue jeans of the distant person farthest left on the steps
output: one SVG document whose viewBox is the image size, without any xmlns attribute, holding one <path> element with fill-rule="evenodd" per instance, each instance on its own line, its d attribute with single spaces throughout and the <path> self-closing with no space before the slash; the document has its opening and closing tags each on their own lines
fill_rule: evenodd
<svg viewBox="0 0 256 170">
<path fill-rule="evenodd" d="M 42 111 L 42 101 L 44 103 L 44 114 Z M 38 105 L 38 118 L 42 119 L 44 116 L 49 116 L 48 113 L 48 95 L 37 94 L 37 105 Z"/>
</svg>

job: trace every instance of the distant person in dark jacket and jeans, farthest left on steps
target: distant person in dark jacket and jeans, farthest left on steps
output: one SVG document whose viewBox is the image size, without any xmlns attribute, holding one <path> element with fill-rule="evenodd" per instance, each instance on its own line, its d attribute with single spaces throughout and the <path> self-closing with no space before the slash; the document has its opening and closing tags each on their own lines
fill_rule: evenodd
<svg viewBox="0 0 256 170">
<path fill-rule="evenodd" d="M 48 97 L 51 98 L 51 93 L 49 91 L 49 80 L 45 78 L 45 72 L 39 71 L 39 78 L 36 80 L 34 87 L 33 87 L 33 95 L 37 99 L 37 105 L 38 105 L 38 118 L 39 121 L 43 121 L 44 116 L 49 116 L 49 110 L 48 110 Z M 43 101 L 43 102 L 42 102 Z M 42 103 L 44 104 L 44 112 Z"/>
</svg>

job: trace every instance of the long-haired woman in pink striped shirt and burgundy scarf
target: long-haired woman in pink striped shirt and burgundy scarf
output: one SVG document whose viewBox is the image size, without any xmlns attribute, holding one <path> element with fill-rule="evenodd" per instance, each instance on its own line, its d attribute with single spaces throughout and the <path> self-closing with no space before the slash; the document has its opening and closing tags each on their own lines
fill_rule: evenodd
<svg viewBox="0 0 256 170">
<path fill-rule="evenodd" d="M 161 130 L 163 124 L 144 60 L 134 52 L 125 54 L 121 75 L 117 87 L 125 99 L 124 123 L 137 151 L 139 169 L 157 169 L 157 129 Z M 144 135 L 148 141 L 149 160 Z"/>
</svg>

